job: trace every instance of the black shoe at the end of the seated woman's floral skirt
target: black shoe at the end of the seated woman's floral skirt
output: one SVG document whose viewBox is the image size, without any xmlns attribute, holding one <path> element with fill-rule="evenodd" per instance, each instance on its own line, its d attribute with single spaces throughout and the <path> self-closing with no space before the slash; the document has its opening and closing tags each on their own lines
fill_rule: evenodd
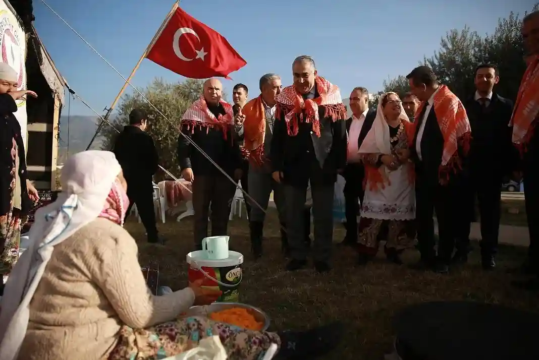
<svg viewBox="0 0 539 360">
<path fill-rule="evenodd" d="M 326 355 L 340 343 L 342 333 L 340 322 L 307 331 L 282 331 L 277 333 L 281 339 L 281 348 L 274 359 L 312 359 Z"/>
</svg>

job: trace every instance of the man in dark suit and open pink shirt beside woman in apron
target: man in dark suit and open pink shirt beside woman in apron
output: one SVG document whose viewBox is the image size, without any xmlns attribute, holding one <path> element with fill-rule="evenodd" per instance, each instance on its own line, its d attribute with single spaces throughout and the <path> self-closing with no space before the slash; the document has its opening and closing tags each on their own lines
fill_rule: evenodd
<svg viewBox="0 0 539 360">
<path fill-rule="evenodd" d="M 363 178 L 365 169 L 361 164 L 358 150 L 372 128 L 376 109 L 369 110 L 369 91 L 356 87 L 350 93 L 352 116 L 346 121 L 348 134 L 347 164 L 342 173 L 344 180 L 344 210 L 346 215 L 346 236 L 340 245 L 354 246 L 357 243 L 357 215 L 359 202 L 363 202 Z"/>
</svg>

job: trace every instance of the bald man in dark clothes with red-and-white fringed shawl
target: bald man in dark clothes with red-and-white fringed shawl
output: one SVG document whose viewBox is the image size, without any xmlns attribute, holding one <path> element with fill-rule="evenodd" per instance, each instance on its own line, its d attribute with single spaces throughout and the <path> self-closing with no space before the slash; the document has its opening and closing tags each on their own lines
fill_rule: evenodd
<svg viewBox="0 0 539 360">
<path fill-rule="evenodd" d="M 223 84 L 204 83 L 204 94 L 185 111 L 181 129 L 236 182 L 241 177 L 241 155 L 233 127 L 232 106 L 223 100 Z M 193 186 L 195 249 L 202 250 L 208 236 L 211 203 L 211 235 L 226 235 L 230 205 L 236 186 L 182 134 L 178 137 L 178 161 L 182 177 Z"/>
</svg>

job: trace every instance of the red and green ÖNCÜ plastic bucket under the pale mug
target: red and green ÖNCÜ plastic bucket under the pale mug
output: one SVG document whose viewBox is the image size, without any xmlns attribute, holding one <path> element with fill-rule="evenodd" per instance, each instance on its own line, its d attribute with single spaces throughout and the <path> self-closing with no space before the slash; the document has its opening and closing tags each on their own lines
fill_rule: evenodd
<svg viewBox="0 0 539 360">
<path fill-rule="evenodd" d="M 202 278 L 202 286 L 223 292 L 217 301 L 239 302 L 239 285 L 243 279 L 241 253 L 229 251 L 229 257 L 226 259 L 210 260 L 205 251 L 192 251 L 187 254 L 186 260 L 189 264 L 190 283 Z"/>
</svg>

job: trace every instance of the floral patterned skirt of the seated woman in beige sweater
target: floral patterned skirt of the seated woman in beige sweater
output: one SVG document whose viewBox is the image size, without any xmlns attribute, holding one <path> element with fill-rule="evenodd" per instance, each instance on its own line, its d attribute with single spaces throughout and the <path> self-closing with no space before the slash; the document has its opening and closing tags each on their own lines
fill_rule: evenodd
<svg viewBox="0 0 539 360">
<path fill-rule="evenodd" d="M 275 333 L 244 330 L 196 316 L 148 329 L 123 326 L 108 360 L 164 359 L 195 348 L 203 338 L 213 335 L 219 335 L 229 360 L 261 359 L 272 343 L 281 343 Z"/>
</svg>

